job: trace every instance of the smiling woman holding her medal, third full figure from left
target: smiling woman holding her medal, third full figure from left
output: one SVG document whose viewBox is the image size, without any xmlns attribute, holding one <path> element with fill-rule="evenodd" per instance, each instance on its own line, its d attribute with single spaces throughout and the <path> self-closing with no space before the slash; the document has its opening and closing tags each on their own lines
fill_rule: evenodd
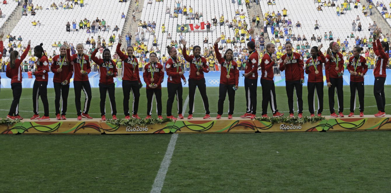
<svg viewBox="0 0 391 193">
<path fill-rule="evenodd" d="M 53 86 L 56 97 L 54 106 L 56 106 L 56 120 L 66 120 L 65 114 L 68 106 L 69 83 L 73 74 L 73 65 L 66 59 L 66 48 L 68 42 L 60 47 L 60 54 L 53 57 L 53 63 L 50 70 L 54 73 Z M 60 99 L 63 100 L 60 112 Z M 61 115 L 60 115 L 61 113 Z"/>
</svg>

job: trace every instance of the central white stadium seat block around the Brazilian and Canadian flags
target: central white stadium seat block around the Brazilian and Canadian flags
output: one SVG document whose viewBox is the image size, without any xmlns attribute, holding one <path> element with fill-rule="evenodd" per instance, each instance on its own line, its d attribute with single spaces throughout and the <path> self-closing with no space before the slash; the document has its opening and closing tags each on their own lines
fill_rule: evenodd
<svg viewBox="0 0 391 193">
<path fill-rule="evenodd" d="M 235 17 L 235 11 L 239 9 L 243 9 L 243 11 L 246 13 L 246 16 L 248 15 L 248 11 L 246 9 L 246 6 L 244 4 L 238 5 L 237 3 L 232 3 L 231 0 L 221 0 L 221 1 L 191 1 L 191 0 L 182 0 L 181 6 L 187 6 L 187 9 L 191 5 L 193 7 L 193 13 L 195 12 L 202 12 L 203 17 L 199 18 L 199 20 L 186 20 L 186 16 L 183 16 L 183 14 L 178 14 L 178 18 L 170 18 L 170 14 L 174 13 L 174 8 L 176 7 L 174 0 L 165 0 L 164 2 L 156 2 L 152 1 L 152 4 L 148 4 L 148 1 L 144 1 L 144 6 L 142 10 L 142 21 L 155 21 L 156 22 L 156 38 L 158 40 L 158 47 L 161 50 L 161 55 L 165 54 L 167 55 L 166 46 L 170 45 L 171 39 L 167 39 L 167 35 L 170 33 L 172 36 L 172 40 L 178 41 L 178 48 L 181 46 L 179 42 L 178 35 L 180 33 L 176 32 L 177 24 L 189 24 L 189 23 L 200 23 L 200 22 L 207 22 L 209 21 L 212 23 L 212 19 L 214 17 L 219 20 L 219 17 L 221 14 L 224 15 L 224 20 L 229 20 L 230 22 Z M 170 8 L 170 14 L 166 14 L 165 10 L 166 8 Z M 188 12 L 189 13 L 189 12 Z M 240 17 L 237 17 L 237 20 L 240 20 Z M 245 18 L 246 23 L 248 23 L 249 26 L 251 26 L 251 23 L 249 21 L 249 18 Z M 243 21 L 243 19 L 242 19 Z M 162 24 L 165 24 L 165 33 L 163 34 L 161 32 L 161 26 Z M 200 31 L 200 32 L 190 32 L 184 34 L 185 40 L 187 41 L 187 48 L 190 45 L 199 45 L 202 47 L 201 50 L 204 49 L 204 47 L 213 46 L 214 41 L 220 37 L 221 33 L 224 32 L 226 34 L 226 38 L 228 37 L 235 37 L 235 34 L 233 32 L 233 28 L 228 28 L 227 26 L 219 26 L 217 24 L 216 27 L 211 26 L 211 33 L 206 33 L 206 30 Z M 203 44 L 203 40 L 205 37 L 208 37 L 209 44 Z M 153 35 L 146 34 L 145 38 L 148 42 L 147 45 L 149 48 L 152 47 L 152 41 L 153 41 Z M 146 42 L 145 42 L 146 43 Z M 221 44 L 221 42 L 219 43 Z M 224 44 L 224 46 L 227 46 L 227 48 L 233 48 L 233 44 Z M 239 44 L 237 44 L 239 45 Z M 242 43 L 242 47 L 245 46 L 245 43 Z M 156 48 L 154 48 L 156 50 Z M 158 54 L 158 57 L 160 55 Z"/>
</svg>

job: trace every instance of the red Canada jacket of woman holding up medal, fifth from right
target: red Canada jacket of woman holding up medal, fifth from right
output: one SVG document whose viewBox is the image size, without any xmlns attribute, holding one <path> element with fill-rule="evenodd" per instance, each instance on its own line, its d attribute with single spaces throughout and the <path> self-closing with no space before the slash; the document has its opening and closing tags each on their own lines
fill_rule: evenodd
<svg viewBox="0 0 391 193">
<path fill-rule="evenodd" d="M 288 57 L 288 63 L 283 65 L 280 64 L 280 71 L 285 70 L 285 80 L 286 81 L 296 81 L 304 78 L 304 62 L 303 57 L 300 53 L 292 52 L 293 57 L 289 57 L 287 54 L 284 54 L 281 57 L 281 60 L 284 61 Z"/>
</svg>

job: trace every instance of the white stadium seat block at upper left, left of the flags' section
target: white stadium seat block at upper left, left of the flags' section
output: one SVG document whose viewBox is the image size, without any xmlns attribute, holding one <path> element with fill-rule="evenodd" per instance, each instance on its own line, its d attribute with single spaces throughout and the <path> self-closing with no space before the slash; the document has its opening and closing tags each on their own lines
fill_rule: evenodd
<svg viewBox="0 0 391 193">
<path fill-rule="evenodd" d="M 125 15 L 127 14 L 131 3 L 130 1 L 127 3 L 112 1 L 110 7 L 108 7 L 106 0 L 93 0 L 86 1 L 84 7 L 74 5 L 74 9 L 56 10 L 50 9 L 50 4 L 53 2 L 58 5 L 60 1 L 41 0 L 39 3 L 34 1 L 34 5 L 38 4 L 39 6 L 42 6 L 43 10 L 37 10 L 35 16 L 31 16 L 30 14 L 28 16 L 23 16 L 11 32 L 12 35 L 22 35 L 23 46 L 27 44 L 29 39 L 31 39 L 32 45 L 38 45 L 42 42 L 43 48 L 47 50 L 47 53 L 51 54 L 53 50 L 56 50 L 58 53 L 59 48 L 52 48 L 52 44 L 59 41 L 61 44 L 64 41 L 68 41 L 76 46 L 77 43 L 85 44 L 86 39 L 88 37 L 91 38 L 92 36 L 97 41 L 98 35 L 100 35 L 101 39 L 105 39 L 108 43 L 110 35 L 116 34 L 116 39 L 118 39 L 118 35 L 121 34 L 125 23 L 125 19 L 121 19 L 121 14 L 122 12 L 124 12 Z M 87 34 L 86 29 L 79 32 L 72 32 L 72 21 L 76 20 L 77 29 L 79 29 L 79 21 L 84 18 L 87 18 L 90 21 L 96 18 L 104 19 L 106 25 L 111 27 L 111 30 L 109 30 L 109 32 L 97 32 L 96 34 Z M 41 26 L 34 27 L 31 23 L 34 20 L 39 21 Z M 71 24 L 71 32 L 66 32 L 66 23 L 68 21 Z M 118 32 L 113 32 L 113 28 L 116 25 L 120 30 Z M 118 41 L 116 40 L 116 42 Z M 111 49 L 112 54 L 115 52 L 115 46 L 117 46 L 117 44 L 114 44 L 113 48 L 108 47 Z M 86 45 L 85 48 L 89 49 L 90 45 Z"/>
</svg>

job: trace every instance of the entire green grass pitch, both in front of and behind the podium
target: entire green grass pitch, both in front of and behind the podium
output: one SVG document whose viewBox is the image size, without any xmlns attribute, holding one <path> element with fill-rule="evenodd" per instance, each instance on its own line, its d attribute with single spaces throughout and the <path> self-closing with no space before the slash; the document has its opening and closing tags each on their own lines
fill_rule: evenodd
<svg viewBox="0 0 391 193">
<path fill-rule="evenodd" d="M 377 108 L 372 87 L 365 89 L 365 113 L 374 114 Z M 278 109 L 285 113 L 288 111 L 285 87 L 276 90 Z M 348 114 L 350 92 L 348 87 L 344 90 L 344 112 Z M 31 92 L 32 89 L 23 89 L 20 115 L 25 118 L 32 115 Z M 117 114 L 123 118 L 122 89 L 116 92 Z M 391 93 L 391 86 L 386 86 L 385 92 Z M 163 89 L 163 115 L 166 93 Z M 260 112 L 260 87 L 258 94 Z M 145 89 L 141 95 L 139 115 L 145 117 Z M 184 89 L 184 100 L 187 95 Z M 0 96 L 3 104 L 0 117 L 5 117 L 11 89 L 2 89 Z M 303 89 L 303 96 L 304 113 L 309 115 L 307 88 Z M 53 89 L 49 89 L 48 97 L 50 116 L 54 118 Z M 215 116 L 218 89 L 208 88 L 208 97 L 211 114 Z M 67 117 L 75 118 L 73 90 L 69 100 Z M 235 116 L 239 116 L 245 112 L 244 88 L 237 91 L 235 102 Z M 202 117 L 204 110 L 198 91 L 195 103 L 194 115 Z M 106 107 L 106 112 L 110 112 L 109 104 Z M 327 109 L 325 96 L 323 115 L 329 115 Z M 386 112 L 390 110 L 387 105 Z M 100 117 L 98 89 L 93 89 L 90 114 Z M 172 135 L 178 134 L 0 135 L 0 189 L 18 193 L 149 192 Z M 161 191 L 389 192 L 390 138 L 390 131 L 180 134 Z"/>
</svg>

